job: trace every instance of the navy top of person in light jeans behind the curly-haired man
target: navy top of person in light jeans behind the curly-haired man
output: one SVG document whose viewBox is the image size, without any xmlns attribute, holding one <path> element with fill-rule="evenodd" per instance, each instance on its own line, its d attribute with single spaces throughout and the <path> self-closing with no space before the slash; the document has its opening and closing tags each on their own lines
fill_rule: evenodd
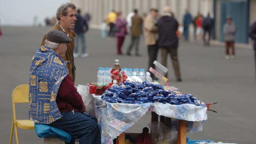
<svg viewBox="0 0 256 144">
<path fill-rule="evenodd" d="M 74 32 L 75 33 L 85 33 L 88 31 L 89 26 L 86 21 L 81 15 L 77 15 L 77 21 L 75 22 Z"/>
</svg>

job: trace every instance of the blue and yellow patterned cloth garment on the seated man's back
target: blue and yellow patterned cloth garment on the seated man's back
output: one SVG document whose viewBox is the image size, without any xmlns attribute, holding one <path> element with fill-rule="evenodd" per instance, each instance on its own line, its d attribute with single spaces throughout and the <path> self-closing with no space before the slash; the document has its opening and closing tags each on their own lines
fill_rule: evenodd
<svg viewBox="0 0 256 144">
<path fill-rule="evenodd" d="M 29 70 L 29 119 L 49 124 L 62 117 L 55 102 L 62 80 L 67 76 L 66 62 L 52 49 L 40 47 Z"/>
</svg>

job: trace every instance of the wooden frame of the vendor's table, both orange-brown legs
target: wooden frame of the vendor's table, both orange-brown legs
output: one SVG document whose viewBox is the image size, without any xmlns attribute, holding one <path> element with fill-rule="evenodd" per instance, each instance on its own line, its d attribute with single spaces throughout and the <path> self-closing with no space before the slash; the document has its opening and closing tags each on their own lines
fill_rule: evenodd
<svg viewBox="0 0 256 144">
<path fill-rule="evenodd" d="M 186 134 L 186 121 L 179 120 L 177 144 L 186 144 Z M 118 138 L 116 139 L 116 144 L 125 144 L 125 132 L 118 136 Z"/>
</svg>

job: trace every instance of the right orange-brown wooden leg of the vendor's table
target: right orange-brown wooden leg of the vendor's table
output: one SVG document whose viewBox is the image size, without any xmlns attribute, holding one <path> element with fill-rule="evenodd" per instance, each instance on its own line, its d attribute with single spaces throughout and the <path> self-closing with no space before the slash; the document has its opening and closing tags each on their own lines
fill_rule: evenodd
<svg viewBox="0 0 256 144">
<path fill-rule="evenodd" d="M 186 144 L 186 134 L 187 134 L 186 121 L 179 120 L 177 144 Z"/>
</svg>

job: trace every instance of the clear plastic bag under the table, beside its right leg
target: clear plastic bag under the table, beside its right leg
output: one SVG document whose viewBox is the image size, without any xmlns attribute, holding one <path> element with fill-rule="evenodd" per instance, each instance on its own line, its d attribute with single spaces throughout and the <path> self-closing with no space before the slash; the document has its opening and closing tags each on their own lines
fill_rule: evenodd
<svg viewBox="0 0 256 144">
<path fill-rule="evenodd" d="M 150 122 L 148 124 L 151 131 L 151 138 L 154 144 L 175 144 L 177 141 L 177 131 L 171 130 L 161 122 Z"/>
</svg>

